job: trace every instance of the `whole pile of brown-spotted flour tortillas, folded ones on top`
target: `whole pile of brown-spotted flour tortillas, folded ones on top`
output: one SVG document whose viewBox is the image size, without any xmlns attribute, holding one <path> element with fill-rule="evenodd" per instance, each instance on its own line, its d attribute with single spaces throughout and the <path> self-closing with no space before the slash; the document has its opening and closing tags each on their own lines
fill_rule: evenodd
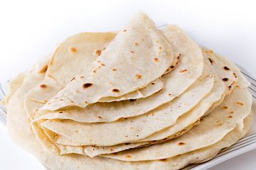
<svg viewBox="0 0 256 170">
<path fill-rule="evenodd" d="M 10 81 L 7 128 L 48 169 L 181 169 L 252 125 L 250 83 L 230 60 L 138 12 L 79 33 Z"/>
</svg>

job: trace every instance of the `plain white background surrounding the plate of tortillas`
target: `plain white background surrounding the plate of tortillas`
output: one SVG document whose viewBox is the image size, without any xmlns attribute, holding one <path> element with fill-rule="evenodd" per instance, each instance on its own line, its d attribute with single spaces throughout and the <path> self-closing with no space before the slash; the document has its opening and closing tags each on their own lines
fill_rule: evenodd
<svg viewBox="0 0 256 170">
<path fill-rule="evenodd" d="M 80 32 L 117 30 L 138 10 L 157 25 L 174 23 L 199 44 L 256 73 L 253 1 L 0 1 L 0 81 L 29 69 L 56 45 Z M 0 169 L 43 169 L 0 126 Z M 214 166 L 255 169 L 256 150 Z"/>
</svg>

